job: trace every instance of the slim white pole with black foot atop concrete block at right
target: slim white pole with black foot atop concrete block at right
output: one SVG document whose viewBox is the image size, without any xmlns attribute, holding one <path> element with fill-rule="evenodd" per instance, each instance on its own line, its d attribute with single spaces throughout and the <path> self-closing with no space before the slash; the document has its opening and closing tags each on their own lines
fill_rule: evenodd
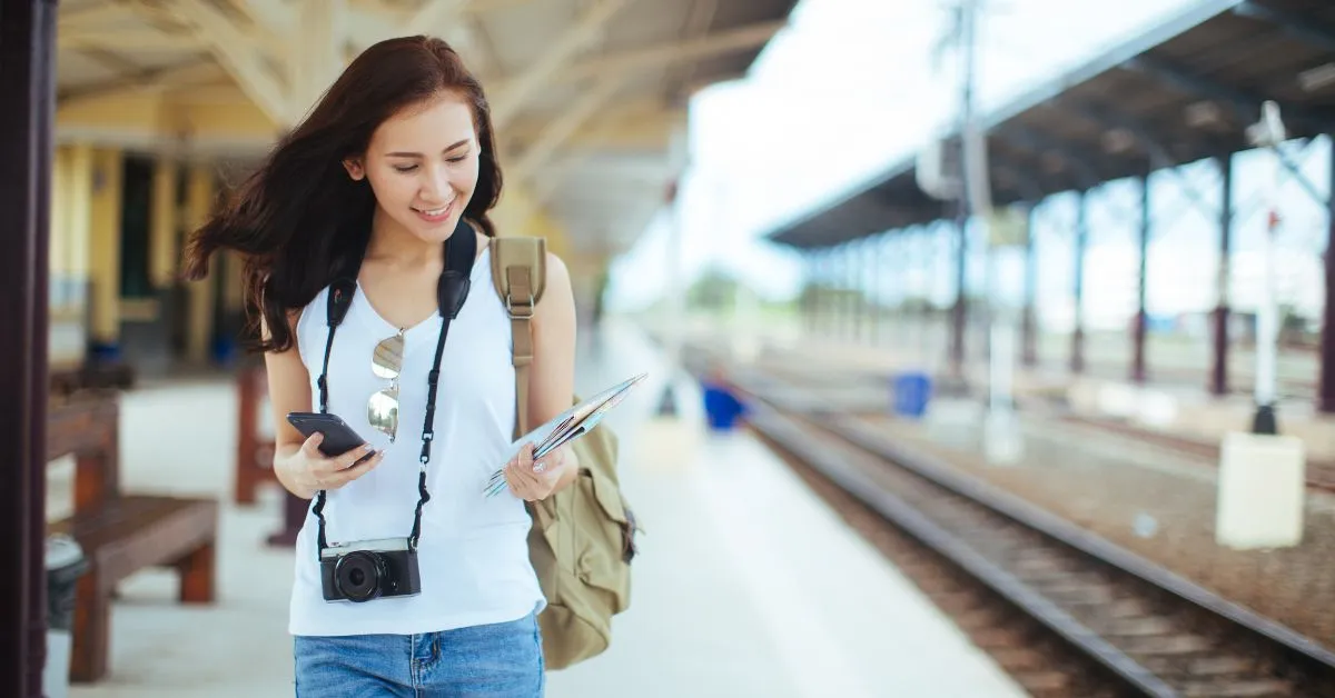
<svg viewBox="0 0 1335 698">
<path fill-rule="evenodd" d="M 1267 200 L 1266 236 L 1262 240 L 1264 276 L 1262 298 L 1256 307 L 1256 415 L 1252 419 L 1252 434 L 1279 434 L 1275 419 L 1275 363 L 1279 352 L 1279 308 L 1275 304 L 1275 232 L 1279 230 L 1279 183 L 1283 176 L 1279 145 L 1284 141 L 1284 124 L 1279 116 L 1279 105 L 1266 101 L 1262 105 L 1260 121 L 1248 128 L 1248 135 L 1259 147 L 1270 148 L 1272 168 L 1268 186 L 1264 186 Z"/>
</svg>

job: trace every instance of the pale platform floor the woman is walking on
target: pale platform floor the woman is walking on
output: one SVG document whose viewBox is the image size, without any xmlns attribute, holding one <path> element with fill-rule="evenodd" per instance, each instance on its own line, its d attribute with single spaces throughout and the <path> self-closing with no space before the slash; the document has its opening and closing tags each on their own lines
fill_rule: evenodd
<svg viewBox="0 0 1335 698">
<path fill-rule="evenodd" d="M 611 415 L 622 478 L 646 530 L 631 609 L 603 655 L 549 675 L 547 695 L 829 697 L 1023 695 L 981 650 L 782 462 L 745 432 L 705 434 L 700 400 L 678 386 L 678 419 L 655 419 L 654 350 L 627 330 L 581 347 L 578 387 L 647 371 Z M 73 698 L 291 695 L 286 631 L 292 554 L 264 539 L 276 490 L 230 500 L 231 382 L 146 386 L 123 398 L 127 488 L 208 494 L 222 503 L 218 602 L 175 603 L 175 578 L 143 571 L 113 606 L 111 671 Z M 51 475 L 52 518 L 69 507 Z"/>
</svg>

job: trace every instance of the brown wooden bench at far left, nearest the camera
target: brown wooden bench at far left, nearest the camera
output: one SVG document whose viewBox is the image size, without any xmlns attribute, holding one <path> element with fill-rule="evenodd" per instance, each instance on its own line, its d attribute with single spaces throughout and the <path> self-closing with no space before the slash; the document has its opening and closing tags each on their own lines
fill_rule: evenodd
<svg viewBox="0 0 1335 698">
<path fill-rule="evenodd" d="M 69 679 L 107 674 L 111 598 L 116 583 L 146 567 L 175 567 L 183 603 L 214 601 L 218 502 L 120 492 L 119 406 L 113 394 L 80 391 L 52 400 L 47 462 L 73 455 L 73 515 L 51 533 L 72 535 L 88 558 L 75 590 Z"/>
</svg>

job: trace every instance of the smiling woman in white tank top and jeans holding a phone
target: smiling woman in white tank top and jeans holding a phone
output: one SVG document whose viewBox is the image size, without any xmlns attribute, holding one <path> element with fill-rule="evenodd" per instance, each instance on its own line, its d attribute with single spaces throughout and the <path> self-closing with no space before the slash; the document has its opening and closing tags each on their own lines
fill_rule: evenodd
<svg viewBox="0 0 1335 698">
<path fill-rule="evenodd" d="M 275 472 L 316 500 L 296 545 L 291 599 L 298 695 L 542 694 L 545 599 L 529 562 L 525 500 L 567 486 L 578 463 L 569 450 L 534 463 L 526 447 L 506 464 L 510 495 L 482 496 L 510 458 L 515 422 L 510 322 L 487 247 L 499 195 L 482 87 L 439 39 L 394 39 L 358 56 L 191 240 L 192 278 L 219 250 L 247 259 L 278 422 Z M 425 439 L 445 324 L 437 291 L 446 250 L 473 242 L 463 236 L 477 242 L 477 256 L 465 259 L 471 288 L 441 350 Z M 356 284 L 331 336 L 330 286 L 348 268 Z M 574 382 L 570 278 L 550 255 L 531 328 L 526 407 L 529 423 L 542 424 L 569 407 Z M 318 411 L 322 394 L 363 447 L 328 458 L 320 434 L 303 439 L 287 423 L 288 412 Z M 415 546 L 403 545 L 410 531 L 421 534 Z M 411 549 L 419 589 L 348 601 L 372 567 L 354 569 L 355 578 L 335 567 L 358 549 L 399 561 L 391 567 Z"/>
</svg>

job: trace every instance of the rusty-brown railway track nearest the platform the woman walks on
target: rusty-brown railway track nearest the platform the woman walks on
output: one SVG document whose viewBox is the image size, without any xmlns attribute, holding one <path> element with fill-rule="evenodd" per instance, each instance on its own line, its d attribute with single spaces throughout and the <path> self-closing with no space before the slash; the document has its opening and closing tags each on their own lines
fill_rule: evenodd
<svg viewBox="0 0 1335 698">
<path fill-rule="evenodd" d="M 821 412 L 800 388 L 734 378 L 762 438 L 1029 693 L 1335 697 L 1335 654 L 1310 638 Z"/>
</svg>

